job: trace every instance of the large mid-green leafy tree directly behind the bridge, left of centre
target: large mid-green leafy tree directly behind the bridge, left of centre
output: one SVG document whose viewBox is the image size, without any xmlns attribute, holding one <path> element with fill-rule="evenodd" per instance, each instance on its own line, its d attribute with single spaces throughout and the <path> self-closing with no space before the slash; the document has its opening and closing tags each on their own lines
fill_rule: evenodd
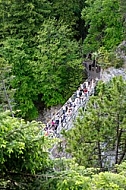
<svg viewBox="0 0 126 190">
<path fill-rule="evenodd" d="M 67 26 L 47 20 L 36 36 L 38 45 L 32 54 L 24 39 L 4 42 L 3 56 L 13 63 L 15 100 L 23 117 L 36 117 L 37 101 L 46 106 L 64 103 L 82 81 L 79 47 L 70 36 Z"/>
</svg>

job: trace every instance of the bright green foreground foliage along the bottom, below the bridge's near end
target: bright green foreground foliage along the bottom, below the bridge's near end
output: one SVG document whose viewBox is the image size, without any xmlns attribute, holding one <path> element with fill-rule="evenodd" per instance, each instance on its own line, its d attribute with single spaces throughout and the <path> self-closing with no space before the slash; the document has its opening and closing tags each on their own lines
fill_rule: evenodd
<svg viewBox="0 0 126 190">
<path fill-rule="evenodd" d="M 118 174 L 99 173 L 97 168 L 79 166 L 73 159 L 50 160 L 54 142 L 41 135 L 43 125 L 0 114 L 0 186 L 5 189 L 125 189 L 125 163 Z M 62 162 L 62 163 L 61 163 Z"/>
</svg>

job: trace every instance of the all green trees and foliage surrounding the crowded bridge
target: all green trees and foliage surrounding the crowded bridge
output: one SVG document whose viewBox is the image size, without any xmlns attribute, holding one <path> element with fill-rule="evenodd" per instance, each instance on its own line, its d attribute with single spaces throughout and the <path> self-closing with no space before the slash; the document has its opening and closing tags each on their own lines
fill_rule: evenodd
<svg viewBox="0 0 126 190">
<path fill-rule="evenodd" d="M 84 81 L 89 54 L 104 68 L 119 66 L 114 52 L 126 37 L 125 10 L 123 0 L 0 0 L 1 189 L 125 190 L 121 77 L 99 82 L 86 112 L 64 133 L 71 159 L 50 159 L 59 139 L 43 136 L 44 125 L 33 121 Z M 109 165 L 103 152 L 113 149 Z"/>
</svg>

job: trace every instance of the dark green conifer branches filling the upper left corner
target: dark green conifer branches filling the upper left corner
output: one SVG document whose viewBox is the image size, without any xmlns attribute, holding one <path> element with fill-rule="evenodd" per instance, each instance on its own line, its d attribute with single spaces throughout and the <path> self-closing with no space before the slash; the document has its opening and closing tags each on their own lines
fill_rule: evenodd
<svg viewBox="0 0 126 190">
<path fill-rule="evenodd" d="M 43 20 L 49 18 L 51 5 L 45 0 L 9 0 L 0 1 L 1 40 L 6 37 L 24 38 L 33 47 L 34 37 Z"/>
</svg>

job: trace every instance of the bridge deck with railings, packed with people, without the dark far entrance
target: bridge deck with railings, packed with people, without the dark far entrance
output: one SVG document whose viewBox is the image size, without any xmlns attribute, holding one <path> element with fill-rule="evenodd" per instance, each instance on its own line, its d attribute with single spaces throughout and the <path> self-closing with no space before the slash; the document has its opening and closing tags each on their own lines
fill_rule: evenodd
<svg viewBox="0 0 126 190">
<path fill-rule="evenodd" d="M 69 130 L 73 127 L 73 123 L 79 114 L 80 108 L 85 110 L 90 95 L 94 94 L 96 83 L 97 80 L 92 79 L 90 81 L 86 80 L 80 85 L 78 90 L 47 123 L 44 132 L 45 135 L 60 138 L 62 129 Z M 79 91 L 82 92 L 81 95 L 79 95 Z M 67 110 L 64 108 L 67 108 Z"/>
</svg>

